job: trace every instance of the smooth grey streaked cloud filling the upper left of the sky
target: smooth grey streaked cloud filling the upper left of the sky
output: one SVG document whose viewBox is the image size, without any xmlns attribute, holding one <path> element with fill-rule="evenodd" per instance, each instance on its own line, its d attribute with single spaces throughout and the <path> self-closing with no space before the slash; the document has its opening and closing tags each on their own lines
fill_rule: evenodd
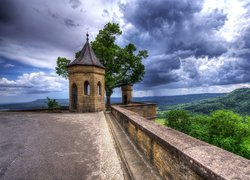
<svg viewBox="0 0 250 180">
<path fill-rule="evenodd" d="M 79 34 L 90 20 L 80 14 L 69 1 L 1 1 L 0 56 L 54 69 L 58 56 L 71 58 L 82 43 Z"/>
</svg>

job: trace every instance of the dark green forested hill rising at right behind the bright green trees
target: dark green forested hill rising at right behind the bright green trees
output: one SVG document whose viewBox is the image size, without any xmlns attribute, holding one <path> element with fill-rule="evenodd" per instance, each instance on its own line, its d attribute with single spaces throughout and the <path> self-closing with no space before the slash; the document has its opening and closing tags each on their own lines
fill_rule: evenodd
<svg viewBox="0 0 250 180">
<path fill-rule="evenodd" d="M 213 99 L 179 104 L 168 107 L 170 109 L 185 109 L 195 113 L 208 114 L 218 109 L 232 110 L 243 115 L 250 114 L 250 88 L 241 88 Z"/>
</svg>

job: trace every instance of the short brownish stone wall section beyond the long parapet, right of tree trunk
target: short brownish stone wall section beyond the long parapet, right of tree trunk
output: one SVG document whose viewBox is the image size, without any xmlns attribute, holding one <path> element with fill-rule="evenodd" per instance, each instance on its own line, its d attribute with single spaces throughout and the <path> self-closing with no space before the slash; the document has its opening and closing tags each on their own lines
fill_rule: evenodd
<svg viewBox="0 0 250 180">
<path fill-rule="evenodd" d="M 156 104 L 154 103 L 131 103 L 128 105 L 120 105 L 120 107 L 133 111 L 149 120 L 156 118 Z"/>
</svg>

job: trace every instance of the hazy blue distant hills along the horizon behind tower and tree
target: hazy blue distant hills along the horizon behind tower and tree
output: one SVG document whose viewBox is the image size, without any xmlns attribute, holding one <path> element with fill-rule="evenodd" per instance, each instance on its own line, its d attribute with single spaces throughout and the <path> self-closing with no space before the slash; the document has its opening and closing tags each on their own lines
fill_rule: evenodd
<svg viewBox="0 0 250 180">
<path fill-rule="evenodd" d="M 153 102 L 157 104 L 159 110 L 165 110 L 169 106 L 176 104 L 190 103 L 195 101 L 200 101 L 204 99 L 214 98 L 222 96 L 224 94 L 190 94 L 190 95 L 181 95 L 181 96 L 152 96 L 152 97 L 134 97 L 133 101 L 136 102 Z M 68 106 L 68 99 L 57 99 L 60 106 Z M 112 103 L 120 103 L 121 98 L 112 97 Z M 46 99 L 37 99 L 32 102 L 25 103 L 12 103 L 12 104 L 0 104 L 0 111 L 4 110 L 27 110 L 27 109 L 46 109 Z"/>
</svg>

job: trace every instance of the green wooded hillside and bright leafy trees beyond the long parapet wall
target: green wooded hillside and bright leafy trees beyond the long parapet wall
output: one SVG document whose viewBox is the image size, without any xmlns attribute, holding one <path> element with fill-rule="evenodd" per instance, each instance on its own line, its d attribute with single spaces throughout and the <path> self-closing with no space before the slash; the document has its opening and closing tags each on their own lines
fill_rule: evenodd
<svg viewBox="0 0 250 180">
<path fill-rule="evenodd" d="M 250 159 L 250 88 L 158 109 L 158 123 Z"/>
</svg>

